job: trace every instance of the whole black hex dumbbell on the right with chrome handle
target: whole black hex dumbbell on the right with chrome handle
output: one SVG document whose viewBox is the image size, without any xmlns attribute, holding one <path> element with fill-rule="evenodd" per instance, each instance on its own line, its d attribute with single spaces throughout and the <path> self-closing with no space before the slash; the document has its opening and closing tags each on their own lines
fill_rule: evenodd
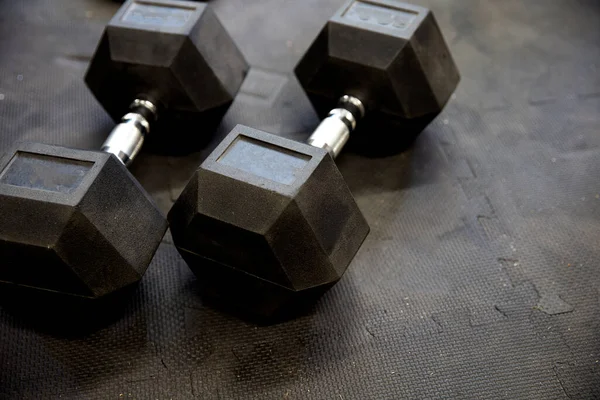
<svg viewBox="0 0 600 400">
<path fill-rule="evenodd" d="M 348 2 L 295 72 L 330 110 L 308 144 L 238 125 L 168 215 L 202 293 L 263 317 L 311 304 L 369 232 L 334 163 L 353 130 L 431 120 L 460 79 L 433 14 L 393 0 Z"/>
</svg>

